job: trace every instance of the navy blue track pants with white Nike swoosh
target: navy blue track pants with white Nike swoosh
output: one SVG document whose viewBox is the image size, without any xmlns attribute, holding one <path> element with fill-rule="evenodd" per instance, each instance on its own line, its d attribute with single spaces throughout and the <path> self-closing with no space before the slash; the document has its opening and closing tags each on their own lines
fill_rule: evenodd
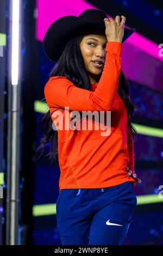
<svg viewBox="0 0 163 256">
<path fill-rule="evenodd" d="M 136 204 L 131 181 L 61 189 L 56 204 L 61 245 L 122 245 Z"/>
</svg>

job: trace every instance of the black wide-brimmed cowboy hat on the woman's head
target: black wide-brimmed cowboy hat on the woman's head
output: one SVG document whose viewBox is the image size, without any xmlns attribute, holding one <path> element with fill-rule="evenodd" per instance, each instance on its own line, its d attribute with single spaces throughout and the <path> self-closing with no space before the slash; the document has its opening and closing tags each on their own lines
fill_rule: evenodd
<svg viewBox="0 0 163 256">
<path fill-rule="evenodd" d="M 79 16 L 64 16 L 54 21 L 47 29 L 43 38 L 43 50 L 47 57 L 57 62 L 67 42 L 74 36 L 86 34 L 91 31 L 103 32 L 105 35 L 103 10 L 86 9 Z M 135 28 L 125 28 L 122 42 L 136 31 Z"/>
</svg>

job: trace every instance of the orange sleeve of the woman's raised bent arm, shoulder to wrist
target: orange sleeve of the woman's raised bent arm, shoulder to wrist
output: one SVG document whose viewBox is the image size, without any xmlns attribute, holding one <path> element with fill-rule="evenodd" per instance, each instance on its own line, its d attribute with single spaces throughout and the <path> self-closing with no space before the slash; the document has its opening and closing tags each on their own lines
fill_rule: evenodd
<svg viewBox="0 0 163 256">
<path fill-rule="evenodd" d="M 121 72 L 122 43 L 106 43 L 105 64 L 95 92 L 78 88 L 66 77 L 49 78 L 44 94 L 48 107 L 69 107 L 70 111 L 111 111 Z"/>
</svg>

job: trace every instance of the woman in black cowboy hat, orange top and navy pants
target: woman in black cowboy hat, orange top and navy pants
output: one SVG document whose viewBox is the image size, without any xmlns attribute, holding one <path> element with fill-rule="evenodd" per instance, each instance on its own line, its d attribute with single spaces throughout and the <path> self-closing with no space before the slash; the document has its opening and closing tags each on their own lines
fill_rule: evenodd
<svg viewBox="0 0 163 256">
<path fill-rule="evenodd" d="M 122 21 L 120 16 L 105 17 L 94 9 L 61 17 L 43 40 L 45 53 L 57 65 L 45 86 L 49 111 L 41 121 L 39 148 L 49 142 L 48 155 L 59 154 L 57 225 L 62 245 L 122 245 L 137 203 L 134 105 L 121 71 L 122 42 L 135 29 L 124 28 L 124 16 Z M 104 118 L 78 118 L 85 111 L 96 112 L 100 120 L 104 113 Z M 104 134 L 99 124 L 105 127 L 107 113 L 111 129 Z M 83 121 L 93 128 L 80 129 Z"/>
</svg>

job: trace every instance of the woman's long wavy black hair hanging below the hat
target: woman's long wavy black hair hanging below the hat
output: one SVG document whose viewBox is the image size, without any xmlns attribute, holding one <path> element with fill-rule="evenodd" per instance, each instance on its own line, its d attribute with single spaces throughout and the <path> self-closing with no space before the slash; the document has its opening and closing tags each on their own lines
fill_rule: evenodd
<svg viewBox="0 0 163 256">
<path fill-rule="evenodd" d="M 72 38 L 67 42 L 64 51 L 62 51 L 58 62 L 51 70 L 49 77 L 66 76 L 67 79 L 70 80 L 75 86 L 89 90 L 91 88 L 91 82 L 89 76 L 87 75 L 84 60 L 79 47 L 82 39 L 83 35 L 80 35 Z M 126 106 L 128 126 L 131 130 L 133 138 L 135 139 L 137 131 L 135 127 L 131 125 L 131 119 L 134 114 L 134 109 L 139 107 L 135 106 L 130 99 L 129 82 L 124 76 L 122 70 L 119 77 L 118 93 L 120 94 L 124 105 Z M 45 97 L 41 101 L 46 102 Z M 49 144 L 49 152 L 46 156 L 48 156 L 49 160 L 56 161 L 56 156 L 58 154 L 58 131 L 53 129 L 52 124 L 53 121 L 48 110 L 45 114 L 43 114 L 43 117 L 39 123 L 39 129 L 43 134 L 43 138 L 41 138 L 41 144 L 36 149 L 36 151 L 41 150 L 41 154 L 39 156 L 40 158 L 45 149 L 45 146 Z"/>
</svg>

